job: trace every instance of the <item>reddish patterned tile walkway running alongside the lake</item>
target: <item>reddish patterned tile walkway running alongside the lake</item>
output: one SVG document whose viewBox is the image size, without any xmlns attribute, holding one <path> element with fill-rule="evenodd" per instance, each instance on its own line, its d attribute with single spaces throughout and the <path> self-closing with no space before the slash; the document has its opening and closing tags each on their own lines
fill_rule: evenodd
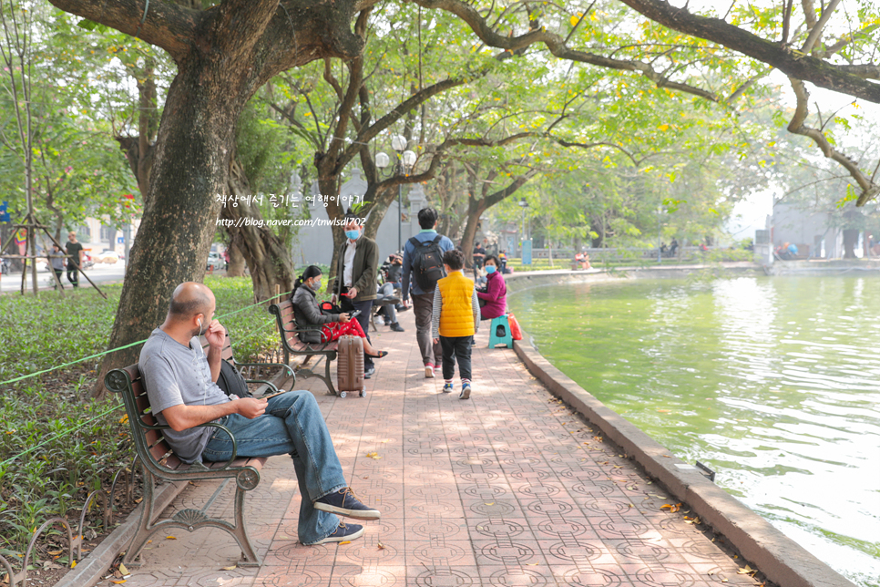
<svg viewBox="0 0 880 587">
<path fill-rule="evenodd" d="M 260 568 L 224 571 L 239 556 L 224 532 L 175 530 L 173 541 L 154 539 L 126 586 L 754 584 L 681 513 L 660 510 L 665 492 L 594 438 L 513 351 L 490 351 L 479 335 L 474 394 L 460 401 L 424 378 L 412 313 L 401 324 L 407 332 L 372 335 L 391 354 L 376 362 L 367 396 L 328 396 L 316 379 L 297 385 L 317 397 L 353 488 L 382 520 L 347 544 L 302 546 L 290 459 L 271 458 L 246 498 Z M 215 489 L 193 484 L 165 515 L 200 507 Z M 229 516 L 232 495 L 223 489 L 211 512 Z"/>
</svg>

